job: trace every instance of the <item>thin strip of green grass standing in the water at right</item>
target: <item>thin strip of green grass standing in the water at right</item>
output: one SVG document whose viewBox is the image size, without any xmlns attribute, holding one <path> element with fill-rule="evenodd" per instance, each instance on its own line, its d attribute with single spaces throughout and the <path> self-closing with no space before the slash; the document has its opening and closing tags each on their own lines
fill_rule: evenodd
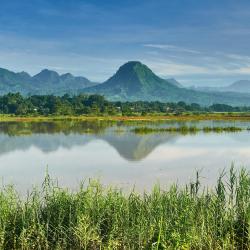
<svg viewBox="0 0 250 250">
<path fill-rule="evenodd" d="M 132 129 L 131 131 L 136 134 L 149 134 L 149 133 L 181 133 L 181 134 L 188 134 L 188 133 L 198 133 L 198 132 L 204 132 L 204 133 L 222 133 L 222 132 L 241 132 L 244 128 L 241 127 L 234 127 L 234 126 L 228 126 L 228 127 L 196 127 L 196 126 L 180 126 L 180 127 L 166 127 L 166 128 L 152 128 L 152 127 L 136 127 Z M 250 129 L 246 129 L 250 130 Z"/>
</svg>

